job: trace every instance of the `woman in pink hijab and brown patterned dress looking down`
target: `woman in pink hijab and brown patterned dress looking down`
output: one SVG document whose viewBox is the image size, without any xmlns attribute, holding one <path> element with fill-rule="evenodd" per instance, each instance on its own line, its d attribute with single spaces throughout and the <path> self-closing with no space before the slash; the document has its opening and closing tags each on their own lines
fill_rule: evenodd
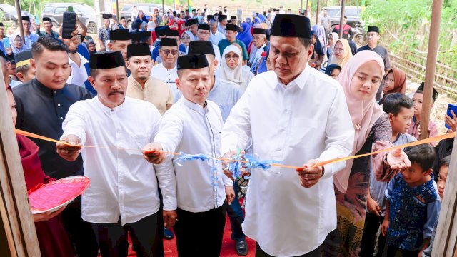
<svg viewBox="0 0 457 257">
<path fill-rule="evenodd" d="M 381 56 L 367 51 L 353 56 L 338 76 L 355 130 L 351 155 L 393 146 L 388 115 L 375 99 L 383 73 L 384 63 Z M 333 176 L 337 227 L 328 234 L 323 243 L 324 256 L 358 256 L 371 168 L 376 178 L 389 181 L 400 168 L 410 165 L 408 156 L 400 149 L 346 161 L 346 168 Z"/>
</svg>

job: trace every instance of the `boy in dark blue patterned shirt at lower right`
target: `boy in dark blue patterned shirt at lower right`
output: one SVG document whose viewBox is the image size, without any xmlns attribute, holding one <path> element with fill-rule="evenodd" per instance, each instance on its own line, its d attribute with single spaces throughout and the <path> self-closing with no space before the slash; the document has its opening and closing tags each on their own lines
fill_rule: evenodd
<svg viewBox="0 0 457 257">
<path fill-rule="evenodd" d="M 430 243 L 441 200 L 432 178 L 435 150 L 429 144 L 405 149 L 411 167 L 398 173 L 386 190 L 386 216 L 381 230 L 387 236 L 387 256 L 418 256 Z"/>
</svg>

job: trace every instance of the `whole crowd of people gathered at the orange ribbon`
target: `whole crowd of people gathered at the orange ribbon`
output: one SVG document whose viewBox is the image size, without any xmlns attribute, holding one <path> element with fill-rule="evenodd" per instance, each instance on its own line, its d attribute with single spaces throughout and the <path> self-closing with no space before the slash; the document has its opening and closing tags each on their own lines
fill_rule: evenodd
<svg viewBox="0 0 457 257">
<path fill-rule="evenodd" d="M 220 256 L 227 214 L 239 256 L 253 251 L 246 236 L 256 256 L 430 256 L 453 138 L 316 166 L 421 136 L 423 84 L 406 95 L 378 27 L 357 47 L 326 13 L 313 26 L 282 6 L 236 14 L 135 6 L 131 27 L 104 14 L 96 39 L 79 21 L 61 39 L 48 17 L 35 32 L 22 17 L 25 39 L 9 31 L 14 126 L 60 140 L 16 136 L 26 187 L 91 179 L 69 206 L 34 214 L 42 256 L 127 256 L 128 237 L 136 256 L 164 256 L 175 235 L 179 256 Z M 456 114 L 446 124 L 456 131 Z M 181 152 L 211 158 L 169 154 Z M 243 211 L 227 167 L 247 153 L 303 168 L 244 171 Z"/>
</svg>

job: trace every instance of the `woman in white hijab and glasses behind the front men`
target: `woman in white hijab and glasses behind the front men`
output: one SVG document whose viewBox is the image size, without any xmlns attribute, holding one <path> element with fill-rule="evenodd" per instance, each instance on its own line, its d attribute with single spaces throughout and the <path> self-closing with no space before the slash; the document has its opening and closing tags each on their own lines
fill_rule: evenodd
<svg viewBox="0 0 457 257">
<path fill-rule="evenodd" d="M 243 55 L 237 46 L 227 46 L 222 54 L 221 68 L 217 69 L 219 79 L 234 82 L 240 85 L 244 92 L 254 74 L 243 69 Z"/>
</svg>

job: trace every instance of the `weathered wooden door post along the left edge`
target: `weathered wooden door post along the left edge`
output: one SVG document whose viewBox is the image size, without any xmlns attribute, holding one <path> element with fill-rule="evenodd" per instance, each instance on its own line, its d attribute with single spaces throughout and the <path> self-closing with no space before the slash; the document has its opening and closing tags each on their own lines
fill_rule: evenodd
<svg viewBox="0 0 457 257">
<path fill-rule="evenodd" d="M 0 74 L 3 74 L 1 66 Z M 9 251 L 11 256 L 41 256 L 3 79 L 0 79 L 0 99 L 4 99 L 0 101 L 0 193 L 3 201 L 0 214 L 4 224 L 7 223 L 4 229 L 8 230 L 6 235 L 12 242 L 9 245 L 14 245 Z"/>
</svg>

